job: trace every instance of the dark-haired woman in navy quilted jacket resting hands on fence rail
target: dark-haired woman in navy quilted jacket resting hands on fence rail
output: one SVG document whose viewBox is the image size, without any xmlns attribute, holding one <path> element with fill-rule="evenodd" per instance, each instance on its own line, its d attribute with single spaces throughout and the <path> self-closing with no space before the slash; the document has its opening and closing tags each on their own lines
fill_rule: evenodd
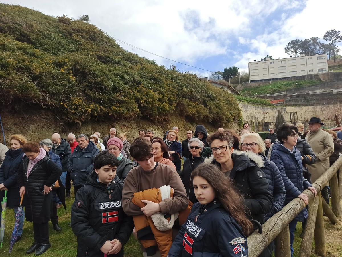
<svg viewBox="0 0 342 257">
<path fill-rule="evenodd" d="M 283 124 L 279 126 L 277 131 L 278 142 L 274 143 L 271 153 L 271 161 L 280 170 L 285 185 L 286 199 L 284 206 L 296 197 L 302 199 L 307 205 L 309 199 L 306 194 L 302 193 L 304 189 L 309 189 L 315 196 L 317 194 L 316 189 L 303 177 L 302 156 L 296 148 L 298 138 L 298 128 L 295 125 Z M 304 208 L 289 224 L 291 257 L 293 256 L 292 245 L 297 222 L 305 222 L 306 218 L 307 210 Z"/>
</svg>

